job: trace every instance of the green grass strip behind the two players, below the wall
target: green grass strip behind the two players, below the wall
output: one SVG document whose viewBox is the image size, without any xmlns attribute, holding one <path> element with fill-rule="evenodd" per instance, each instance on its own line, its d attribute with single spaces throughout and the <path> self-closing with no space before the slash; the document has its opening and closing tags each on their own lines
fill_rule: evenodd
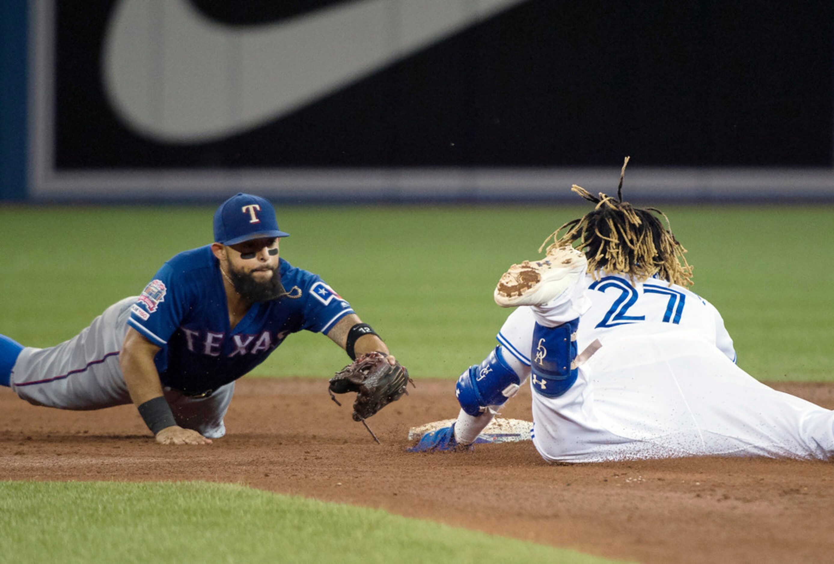
<svg viewBox="0 0 834 564">
<path fill-rule="evenodd" d="M 831 380 L 834 207 L 664 206 L 762 380 Z M 495 281 L 587 207 L 281 207 L 282 256 L 319 273 L 414 377 L 456 377 L 494 346 Z M 141 292 L 178 251 L 212 239 L 213 207 L 0 207 L 0 332 L 46 347 Z M 329 377 L 329 339 L 289 337 L 254 374 Z"/>
</svg>

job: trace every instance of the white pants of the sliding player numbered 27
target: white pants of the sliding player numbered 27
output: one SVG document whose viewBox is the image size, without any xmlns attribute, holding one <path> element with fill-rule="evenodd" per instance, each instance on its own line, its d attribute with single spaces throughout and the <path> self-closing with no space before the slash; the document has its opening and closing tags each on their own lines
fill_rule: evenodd
<svg viewBox="0 0 834 564">
<path fill-rule="evenodd" d="M 603 342 L 563 396 L 533 390 L 545 460 L 834 457 L 834 412 L 776 392 L 686 331 Z"/>
</svg>

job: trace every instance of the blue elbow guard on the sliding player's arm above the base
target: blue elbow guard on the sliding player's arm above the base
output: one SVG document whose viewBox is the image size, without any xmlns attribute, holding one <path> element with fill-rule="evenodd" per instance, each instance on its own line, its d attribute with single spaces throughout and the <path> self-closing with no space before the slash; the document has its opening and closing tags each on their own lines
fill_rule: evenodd
<svg viewBox="0 0 834 564">
<path fill-rule="evenodd" d="M 484 362 L 475 364 L 458 378 L 455 396 L 463 410 L 473 417 L 486 411 L 488 406 L 500 406 L 518 392 L 521 380 L 495 347 Z"/>
</svg>

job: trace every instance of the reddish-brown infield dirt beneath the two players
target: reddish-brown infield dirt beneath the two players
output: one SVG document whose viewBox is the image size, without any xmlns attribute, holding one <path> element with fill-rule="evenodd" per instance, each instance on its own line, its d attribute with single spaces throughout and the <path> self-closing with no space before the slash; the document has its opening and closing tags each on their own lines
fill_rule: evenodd
<svg viewBox="0 0 834 564">
<path fill-rule="evenodd" d="M 530 442 L 409 454 L 409 427 L 454 417 L 454 382 L 418 388 L 369 421 L 324 380 L 244 378 L 228 435 L 156 445 L 135 408 L 61 412 L 0 389 L 0 477 L 207 480 L 381 507 L 407 517 L 640 562 L 831 562 L 834 465 L 690 458 L 551 466 Z M 776 385 L 834 408 L 834 387 Z M 506 417 L 530 420 L 530 392 Z"/>
</svg>

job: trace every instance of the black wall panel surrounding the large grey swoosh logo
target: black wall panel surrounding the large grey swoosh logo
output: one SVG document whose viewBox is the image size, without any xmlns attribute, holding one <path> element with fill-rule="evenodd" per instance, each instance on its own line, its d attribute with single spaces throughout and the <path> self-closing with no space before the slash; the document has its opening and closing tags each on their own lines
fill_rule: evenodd
<svg viewBox="0 0 834 564">
<path fill-rule="evenodd" d="M 349 3 L 191 5 L 219 27 L 257 29 Z M 530 0 L 289 115 L 198 142 L 154 138 L 113 109 L 102 67 L 117 6 L 55 4 L 55 175 L 619 167 L 625 154 L 648 167 L 834 164 L 832 2 Z"/>
</svg>

